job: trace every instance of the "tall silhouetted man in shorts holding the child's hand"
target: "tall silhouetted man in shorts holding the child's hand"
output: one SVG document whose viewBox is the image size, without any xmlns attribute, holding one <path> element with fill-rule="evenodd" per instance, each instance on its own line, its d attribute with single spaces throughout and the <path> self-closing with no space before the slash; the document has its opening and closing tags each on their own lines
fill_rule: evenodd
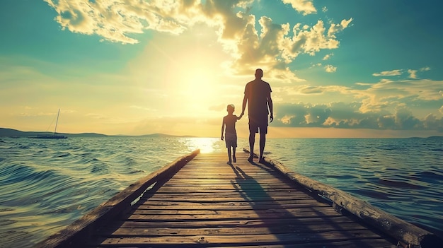
<svg viewBox="0 0 443 248">
<path fill-rule="evenodd" d="M 249 162 L 253 162 L 255 133 L 260 133 L 260 157 L 258 162 L 263 163 L 263 151 L 265 150 L 267 134 L 267 115 L 270 114 L 270 122 L 274 119 L 272 112 L 271 87 L 269 83 L 262 80 L 263 70 L 255 70 L 255 79 L 246 83 L 245 96 L 240 117 L 245 114 L 248 104 L 249 116 Z"/>
</svg>

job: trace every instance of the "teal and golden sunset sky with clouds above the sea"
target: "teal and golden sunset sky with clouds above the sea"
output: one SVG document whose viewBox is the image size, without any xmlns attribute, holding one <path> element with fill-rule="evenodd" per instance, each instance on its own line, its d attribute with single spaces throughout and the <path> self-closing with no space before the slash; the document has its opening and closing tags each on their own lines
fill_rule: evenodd
<svg viewBox="0 0 443 248">
<path fill-rule="evenodd" d="M 270 138 L 443 135 L 437 0 L 6 0 L 0 127 L 219 137 L 263 69 Z M 248 117 L 237 124 L 248 136 Z"/>
</svg>

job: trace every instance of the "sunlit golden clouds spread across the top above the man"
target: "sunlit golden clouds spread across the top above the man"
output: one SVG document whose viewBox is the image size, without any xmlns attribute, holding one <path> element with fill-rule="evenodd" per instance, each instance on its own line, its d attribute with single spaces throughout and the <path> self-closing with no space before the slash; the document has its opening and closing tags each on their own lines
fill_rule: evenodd
<svg viewBox="0 0 443 248">
<path fill-rule="evenodd" d="M 231 55 L 229 66 L 234 73 L 250 75 L 251 69 L 260 66 L 275 71 L 277 79 L 287 82 L 303 81 L 288 69 L 288 64 L 299 54 L 315 55 L 321 49 L 338 48 L 335 34 L 352 21 L 331 23 L 329 28 L 322 20 L 304 28 L 300 28 L 301 23 L 277 24 L 270 17 L 250 14 L 251 0 L 45 1 L 57 11 L 55 20 L 63 29 L 124 44 L 139 42 L 131 35 L 146 30 L 179 35 L 196 23 L 205 23 L 214 28 L 217 41 Z M 304 15 L 316 13 L 312 1 L 282 1 Z M 260 29 L 255 26 L 256 20 Z"/>
</svg>

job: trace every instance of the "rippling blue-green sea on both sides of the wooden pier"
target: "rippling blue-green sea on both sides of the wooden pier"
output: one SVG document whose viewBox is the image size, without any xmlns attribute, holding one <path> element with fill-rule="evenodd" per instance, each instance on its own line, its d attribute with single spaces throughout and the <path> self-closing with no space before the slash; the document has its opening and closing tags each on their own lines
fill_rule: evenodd
<svg viewBox="0 0 443 248">
<path fill-rule="evenodd" d="M 219 138 L 0 138 L 0 247 L 44 240 L 197 148 L 226 153 Z M 442 235 L 441 137 L 270 138 L 265 156 Z"/>
</svg>

